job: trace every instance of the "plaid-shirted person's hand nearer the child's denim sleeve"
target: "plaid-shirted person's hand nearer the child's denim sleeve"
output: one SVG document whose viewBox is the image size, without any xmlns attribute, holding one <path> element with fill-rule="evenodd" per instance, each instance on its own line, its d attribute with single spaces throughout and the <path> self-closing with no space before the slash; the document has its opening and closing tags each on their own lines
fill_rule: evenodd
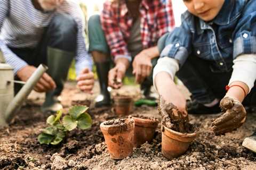
<svg viewBox="0 0 256 170">
<path fill-rule="evenodd" d="M 132 73 L 135 74 L 135 81 L 137 83 L 142 83 L 151 73 L 151 58 L 145 51 L 142 50 L 142 52 L 134 57 L 132 66 Z"/>
</svg>

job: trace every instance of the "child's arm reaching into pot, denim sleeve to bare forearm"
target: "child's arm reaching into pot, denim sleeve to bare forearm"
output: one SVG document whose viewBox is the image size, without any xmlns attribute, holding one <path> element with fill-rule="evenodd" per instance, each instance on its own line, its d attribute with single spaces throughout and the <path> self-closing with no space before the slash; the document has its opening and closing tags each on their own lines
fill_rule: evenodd
<svg viewBox="0 0 256 170">
<path fill-rule="evenodd" d="M 186 99 L 175 86 L 173 78 L 191 51 L 190 32 L 184 26 L 175 28 L 168 35 L 164 35 L 158 41 L 158 45 L 161 55 L 153 72 L 154 87 L 165 101 L 187 113 Z"/>
</svg>

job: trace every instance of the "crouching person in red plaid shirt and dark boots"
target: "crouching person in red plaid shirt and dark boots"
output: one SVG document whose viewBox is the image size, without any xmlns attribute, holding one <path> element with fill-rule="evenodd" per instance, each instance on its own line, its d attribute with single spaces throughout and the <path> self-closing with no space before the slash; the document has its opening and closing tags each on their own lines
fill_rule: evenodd
<svg viewBox="0 0 256 170">
<path fill-rule="evenodd" d="M 96 107 L 109 106 L 108 86 L 118 89 L 126 71 L 132 66 L 135 81 L 148 99 L 152 68 L 159 57 L 157 40 L 174 25 L 172 4 L 168 1 L 106 1 L 101 15 L 89 19 L 89 50 L 100 82 Z M 110 69 L 110 56 L 114 67 Z"/>
</svg>

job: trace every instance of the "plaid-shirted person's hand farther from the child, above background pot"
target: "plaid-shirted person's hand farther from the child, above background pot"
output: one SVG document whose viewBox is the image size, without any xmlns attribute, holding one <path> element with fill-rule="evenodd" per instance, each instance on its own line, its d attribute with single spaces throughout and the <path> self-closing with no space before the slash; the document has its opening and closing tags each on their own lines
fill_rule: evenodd
<svg viewBox="0 0 256 170">
<path fill-rule="evenodd" d="M 108 86 L 119 89 L 123 86 L 122 80 L 126 72 L 126 65 L 119 62 L 108 72 Z"/>
</svg>

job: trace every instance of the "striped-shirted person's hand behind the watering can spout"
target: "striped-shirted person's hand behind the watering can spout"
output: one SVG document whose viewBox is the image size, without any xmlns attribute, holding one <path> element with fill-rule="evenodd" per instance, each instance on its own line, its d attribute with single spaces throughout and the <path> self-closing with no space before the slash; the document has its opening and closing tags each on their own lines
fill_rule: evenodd
<svg viewBox="0 0 256 170">
<path fill-rule="evenodd" d="M 31 75 L 36 71 L 36 67 L 27 65 L 17 72 L 17 76 L 21 81 L 27 81 Z M 44 73 L 39 81 L 36 83 L 34 90 L 37 92 L 51 91 L 56 88 L 53 79 L 47 73 Z"/>
</svg>

